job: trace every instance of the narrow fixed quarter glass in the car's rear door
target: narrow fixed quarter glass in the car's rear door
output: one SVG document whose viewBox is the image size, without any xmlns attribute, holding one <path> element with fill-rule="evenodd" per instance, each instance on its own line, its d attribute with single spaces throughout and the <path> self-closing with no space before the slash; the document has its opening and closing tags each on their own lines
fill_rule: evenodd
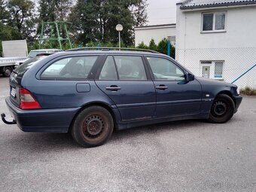
<svg viewBox="0 0 256 192">
<path fill-rule="evenodd" d="M 102 71 L 99 75 L 99 80 L 117 80 L 117 70 L 114 66 L 113 56 L 108 56 L 105 60 Z"/>
</svg>

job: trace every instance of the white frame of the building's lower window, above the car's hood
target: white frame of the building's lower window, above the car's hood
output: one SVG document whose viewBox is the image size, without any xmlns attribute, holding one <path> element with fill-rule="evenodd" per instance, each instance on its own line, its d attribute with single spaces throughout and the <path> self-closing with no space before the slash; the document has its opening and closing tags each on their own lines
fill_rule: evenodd
<svg viewBox="0 0 256 192">
<path fill-rule="evenodd" d="M 208 63 L 206 63 L 206 62 L 208 62 Z M 216 64 L 216 62 L 222 62 L 221 78 L 215 78 L 215 64 Z M 209 66 L 210 67 L 209 79 L 224 81 L 224 66 L 225 66 L 225 61 L 224 60 L 201 60 L 200 61 L 200 77 L 203 77 L 203 66 Z"/>
</svg>

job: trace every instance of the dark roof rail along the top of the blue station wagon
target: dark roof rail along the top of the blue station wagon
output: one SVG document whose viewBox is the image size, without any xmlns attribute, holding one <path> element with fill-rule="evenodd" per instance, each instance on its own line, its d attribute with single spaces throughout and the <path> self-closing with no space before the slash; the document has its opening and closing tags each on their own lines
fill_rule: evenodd
<svg viewBox="0 0 256 192">
<path fill-rule="evenodd" d="M 76 51 L 76 50 L 133 50 L 133 51 L 144 51 L 150 53 L 159 53 L 155 50 L 146 50 L 146 49 L 139 49 L 139 48 L 126 48 L 126 47 L 78 47 L 69 49 L 66 51 Z"/>
</svg>

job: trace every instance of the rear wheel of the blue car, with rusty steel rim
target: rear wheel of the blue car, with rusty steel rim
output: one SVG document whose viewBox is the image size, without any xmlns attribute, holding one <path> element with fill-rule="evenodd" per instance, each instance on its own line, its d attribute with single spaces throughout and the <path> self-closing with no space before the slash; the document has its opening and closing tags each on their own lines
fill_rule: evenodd
<svg viewBox="0 0 256 192">
<path fill-rule="evenodd" d="M 91 106 L 75 118 L 71 133 L 79 145 L 92 148 L 107 142 L 113 130 L 114 121 L 109 111 L 100 106 Z"/>
</svg>

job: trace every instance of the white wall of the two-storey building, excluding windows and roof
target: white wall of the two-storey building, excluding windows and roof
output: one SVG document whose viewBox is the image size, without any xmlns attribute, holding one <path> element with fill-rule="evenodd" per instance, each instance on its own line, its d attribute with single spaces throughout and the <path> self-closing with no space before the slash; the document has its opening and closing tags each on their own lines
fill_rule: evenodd
<svg viewBox="0 0 256 192">
<path fill-rule="evenodd" d="M 224 81 L 232 82 L 256 63 L 256 6 L 181 11 L 177 6 L 176 57 L 201 76 L 200 61 L 224 60 Z M 202 13 L 227 11 L 227 30 L 201 33 Z M 256 69 L 235 84 L 256 87 Z"/>
</svg>

